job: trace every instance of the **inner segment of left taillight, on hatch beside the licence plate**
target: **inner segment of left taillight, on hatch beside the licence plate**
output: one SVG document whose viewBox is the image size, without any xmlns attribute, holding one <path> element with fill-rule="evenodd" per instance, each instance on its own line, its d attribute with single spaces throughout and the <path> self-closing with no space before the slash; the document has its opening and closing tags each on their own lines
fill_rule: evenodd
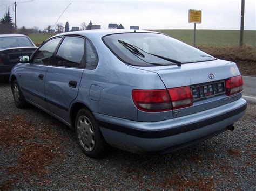
<svg viewBox="0 0 256 191">
<path fill-rule="evenodd" d="M 173 109 L 184 108 L 193 104 L 189 86 L 170 88 L 168 92 L 171 97 Z"/>
</svg>

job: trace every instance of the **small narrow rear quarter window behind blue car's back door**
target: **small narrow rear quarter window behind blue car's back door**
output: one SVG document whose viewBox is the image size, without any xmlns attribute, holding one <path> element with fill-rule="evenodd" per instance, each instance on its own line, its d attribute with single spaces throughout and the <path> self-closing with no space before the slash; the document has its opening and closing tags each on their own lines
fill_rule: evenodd
<svg viewBox="0 0 256 191">
<path fill-rule="evenodd" d="M 95 69 L 98 64 L 98 56 L 95 48 L 90 43 L 89 40 L 86 39 L 85 43 L 85 68 L 86 69 Z"/>
</svg>

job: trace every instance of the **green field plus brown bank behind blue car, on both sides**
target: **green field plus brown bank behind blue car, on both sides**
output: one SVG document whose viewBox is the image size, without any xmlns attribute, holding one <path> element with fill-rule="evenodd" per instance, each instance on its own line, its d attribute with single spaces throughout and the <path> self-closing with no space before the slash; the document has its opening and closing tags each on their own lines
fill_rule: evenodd
<svg viewBox="0 0 256 191">
<path fill-rule="evenodd" d="M 193 44 L 193 30 L 154 30 L 168 34 L 187 44 Z M 29 37 L 39 46 L 54 34 L 31 34 Z M 243 75 L 256 76 L 256 31 L 244 31 L 244 45 L 239 47 L 238 30 L 197 30 L 196 47 L 214 56 L 237 63 Z"/>
</svg>

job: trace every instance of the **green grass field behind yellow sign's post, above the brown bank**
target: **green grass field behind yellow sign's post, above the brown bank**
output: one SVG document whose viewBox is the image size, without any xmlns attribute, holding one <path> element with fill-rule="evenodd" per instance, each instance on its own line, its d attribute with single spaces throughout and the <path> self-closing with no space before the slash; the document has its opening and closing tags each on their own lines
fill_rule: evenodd
<svg viewBox="0 0 256 191">
<path fill-rule="evenodd" d="M 187 44 L 194 43 L 194 30 L 153 30 L 168 34 Z M 239 30 L 196 30 L 196 45 L 238 46 Z M 256 47 L 256 31 L 244 31 L 244 44 Z"/>
</svg>

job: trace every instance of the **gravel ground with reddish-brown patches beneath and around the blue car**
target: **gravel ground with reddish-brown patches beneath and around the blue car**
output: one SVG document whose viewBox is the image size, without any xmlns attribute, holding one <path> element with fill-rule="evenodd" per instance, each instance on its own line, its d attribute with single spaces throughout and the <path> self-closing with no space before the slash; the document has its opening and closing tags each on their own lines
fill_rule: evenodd
<svg viewBox="0 0 256 191">
<path fill-rule="evenodd" d="M 111 148 L 96 160 L 57 119 L 32 106 L 17 109 L 1 81 L 0 190 L 256 189 L 255 104 L 233 132 L 183 150 L 152 157 Z"/>
</svg>

